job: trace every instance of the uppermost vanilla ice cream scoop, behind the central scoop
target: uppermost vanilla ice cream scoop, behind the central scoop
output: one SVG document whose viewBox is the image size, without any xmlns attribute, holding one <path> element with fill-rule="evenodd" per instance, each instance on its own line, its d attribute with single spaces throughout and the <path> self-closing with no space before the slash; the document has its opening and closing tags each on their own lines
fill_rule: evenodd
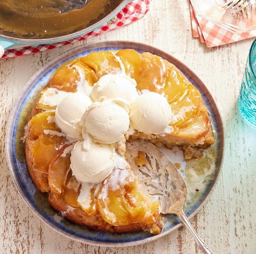
<svg viewBox="0 0 256 254">
<path fill-rule="evenodd" d="M 132 102 L 138 97 L 136 85 L 135 79 L 131 79 L 125 74 L 107 74 L 93 85 L 91 98 L 93 102 L 102 101 L 104 98 L 114 99 L 118 97 Z"/>
</svg>

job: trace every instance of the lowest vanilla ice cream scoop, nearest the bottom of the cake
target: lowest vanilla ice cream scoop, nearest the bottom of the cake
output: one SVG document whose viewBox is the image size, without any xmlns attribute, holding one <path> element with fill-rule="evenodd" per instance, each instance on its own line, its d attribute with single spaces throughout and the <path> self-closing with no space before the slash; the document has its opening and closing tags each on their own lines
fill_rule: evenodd
<svg viewBox="0 0 256 254">
<path fill-rule="evenodd" d="M 70 167 L 78 181 L 98 183 L 113 171 L 114 158 L 114 147 L 92 143 L 90 149 L 84 150 L 83 141 L 77 141 L 71 152 Z"/>
</svg>

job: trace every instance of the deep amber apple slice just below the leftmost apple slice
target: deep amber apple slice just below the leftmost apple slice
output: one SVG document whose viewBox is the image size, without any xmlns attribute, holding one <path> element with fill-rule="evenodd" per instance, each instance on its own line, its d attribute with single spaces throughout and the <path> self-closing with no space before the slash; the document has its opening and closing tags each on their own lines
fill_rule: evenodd
<svg viewBox="0 0 256 254">
<path fill-rule="evenodd" d="M 33 170 L 48 173 L 50 163 L 65 142 L 67 139 L 63 136 L 40 135 L 32 147 Z"/>
</svg>

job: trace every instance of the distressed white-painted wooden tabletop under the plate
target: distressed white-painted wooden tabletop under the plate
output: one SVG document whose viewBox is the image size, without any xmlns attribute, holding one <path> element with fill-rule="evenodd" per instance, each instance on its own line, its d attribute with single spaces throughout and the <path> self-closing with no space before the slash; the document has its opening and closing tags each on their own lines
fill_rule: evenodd
<svg viewBox="0 0 256 254">
<path fill-rule="evenodd" d="M 215 254 L 256 253 L 256 129 L 243 122 L 237 97 L 253 39 L 206 48 L 192 38 L 187 0 L 153 0 L 149 13 L 129 26 L 88 39 L 146 42 L 187 64 L 205 82 L 221 112 L 225 154 L 221 177 L 192 225 Z M 13 103 L 28 79 L 77 42 L 25 57 L 0 60 L 0 253 L 200 254 L 184 227 L 149 244 L 104 248 L 81 244 L 41 222 L 21 199 L 5 157 L 5 133 Z"/>
</svg>

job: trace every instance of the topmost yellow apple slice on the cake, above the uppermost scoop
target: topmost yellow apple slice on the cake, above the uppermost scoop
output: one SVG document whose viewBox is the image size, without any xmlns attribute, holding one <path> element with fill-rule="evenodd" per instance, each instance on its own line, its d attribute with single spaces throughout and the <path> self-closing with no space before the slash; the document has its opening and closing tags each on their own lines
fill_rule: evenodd
<svg viewBox="0 0 256 254">
<path fill-rule="evenodd" d="M 118 50 L 116 55 L 123 63 L 125 73 L 132 79 L 137 80 L 141 72 L 141 55 L 131 49 Z"/>
</svg>

